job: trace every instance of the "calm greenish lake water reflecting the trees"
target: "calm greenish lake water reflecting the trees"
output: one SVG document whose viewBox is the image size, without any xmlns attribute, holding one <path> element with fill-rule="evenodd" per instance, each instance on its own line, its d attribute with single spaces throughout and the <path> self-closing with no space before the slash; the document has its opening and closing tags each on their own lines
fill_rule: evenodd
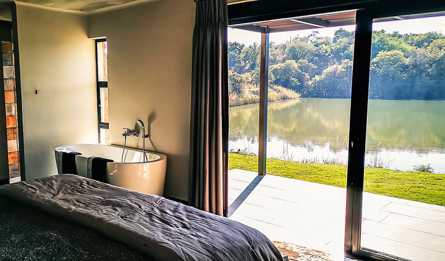
<svg viewBox="0 0 445 261">
<path fill-rule="evenodd" d="M 303 98 L 268 104 L 268 157 L 347 163 L 349 99 Z M 229 149 L 258 154 L 258 104 L 229 110 Z M 369 100 L 366 164 L 445 173 L 445 101 Z"/>
</svg>

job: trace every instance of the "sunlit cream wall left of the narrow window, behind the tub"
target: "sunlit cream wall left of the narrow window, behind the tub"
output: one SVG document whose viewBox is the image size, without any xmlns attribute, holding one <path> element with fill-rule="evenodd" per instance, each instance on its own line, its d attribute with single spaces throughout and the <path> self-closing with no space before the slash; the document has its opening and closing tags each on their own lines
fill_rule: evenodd
<svg viewBox="0 0 445 261">
<path fill-rule="evenodd" d="M 26 177 L 33 179 L 57 174 L 55 147 L 97 143 L 94 40 L 86 16 L 38 6 L 17 3 L 17 25 Z"/>
</svg>

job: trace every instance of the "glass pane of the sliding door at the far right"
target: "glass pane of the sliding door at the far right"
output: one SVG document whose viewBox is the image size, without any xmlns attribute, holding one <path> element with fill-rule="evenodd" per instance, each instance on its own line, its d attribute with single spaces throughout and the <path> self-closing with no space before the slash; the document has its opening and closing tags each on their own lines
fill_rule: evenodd
<svg viewBox="0 0 445 261">
<path fill-rule="evenodd" d="M 445 260 L 445 16 L 374 19 L 361 249 Z"/>
</svg>

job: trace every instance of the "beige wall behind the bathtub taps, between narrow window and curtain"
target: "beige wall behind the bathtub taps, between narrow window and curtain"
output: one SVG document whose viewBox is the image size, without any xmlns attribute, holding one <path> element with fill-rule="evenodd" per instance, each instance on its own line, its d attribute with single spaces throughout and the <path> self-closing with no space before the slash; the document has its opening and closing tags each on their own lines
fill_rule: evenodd
<svg viewBox="0 0 445 261">
<path fill-rule="evenodd" d="M 193 0 L 161 0 L 88 16 L 88 36 L 108 41 L 110 143 L 149 126 L 146 149 L 167 155 L 165 195 L 188 199 Z M 142 139 L 129 137 L 129 147 Z"/>
</svg>

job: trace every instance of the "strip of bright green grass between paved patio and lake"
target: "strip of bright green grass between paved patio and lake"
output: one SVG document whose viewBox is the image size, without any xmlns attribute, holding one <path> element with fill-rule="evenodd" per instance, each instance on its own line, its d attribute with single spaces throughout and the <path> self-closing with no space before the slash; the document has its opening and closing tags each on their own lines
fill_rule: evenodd
<svg viewBox="0 0 445 261">
<path fill-rule="evenodd" d="M 268 174 L 346 187 L 347 167 L 268 158 Z M 258 171 L 258 157 L 230 153 L 229 170 Z M 445 175 L 365 168 L 365 192 L 445 206 Z"/>
</svg>

